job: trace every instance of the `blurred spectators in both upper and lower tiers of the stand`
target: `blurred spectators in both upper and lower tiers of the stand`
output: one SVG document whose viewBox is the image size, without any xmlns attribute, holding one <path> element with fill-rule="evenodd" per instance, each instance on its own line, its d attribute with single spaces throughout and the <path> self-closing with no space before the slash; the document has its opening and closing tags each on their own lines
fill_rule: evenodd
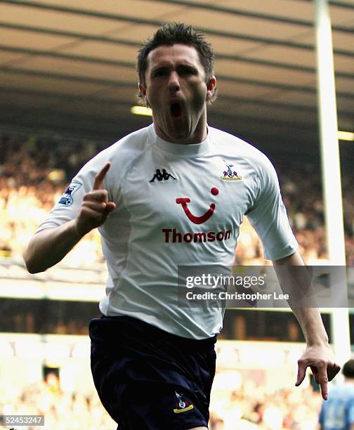
<svg viewBox="0 0 354 430">
<path fill-rule="evenodd" d="M 72 141 L 54 135 L 0 134 L 0 258 L 22 261 L 29 238 L 53 204 L 58 202 L 70 179 L 87 159 L 106 144 Z M 313 164 L 289 166 L 277 162 L 276 168 L 284 204 L 301 243 L 303 258 L 308 264 L 326 259 L 318 167 Z M 345 174 L 346 256 L 348 265 L 354 266 L 354 204 L 350 199 L 350 183 L 353 183 L 353 177 Z M 247 219 L 242 224 L 235 262 L 259 266 L 265 263 L 261 243 Z M 103 268 L 103 263 L 97 230 L 86 235 L 63 261 L 65 266 L 73 268 Z M 17 324 L 19 327 L 34 327 L 34 315 L 26 314 Z M 43 327 L 43 332 L 86 334 L 86 325 L 75 324 L 75 320 L 72 323 L 61 322 L 51 330 Z M 320 394 L 314 392 L 311 386 L 274 393 L 261 385 L 242 384 L 237 391 L 212 392 L 209 428 L 315 429 L 320 403 Z M 103 410 L 96 391 L 67 393 L 60 389 L 54 377 L 31 386 L 0 386 L 0 415 L 10 414 L 45 415 L 44 428 L 51 430 L 115 428 L 114 422 Z M 28 427 L 27 430 L 32 429 Z"/>
</svg>

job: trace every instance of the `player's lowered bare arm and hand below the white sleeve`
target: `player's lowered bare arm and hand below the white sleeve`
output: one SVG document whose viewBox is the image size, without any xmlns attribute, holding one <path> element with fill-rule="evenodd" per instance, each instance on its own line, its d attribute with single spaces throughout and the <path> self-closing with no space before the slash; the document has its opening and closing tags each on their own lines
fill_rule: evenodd
<svg viewBox="0 0 354 430">
<path fill-rule="evenodd" d="M 280 266 L 304 266 L 304 263 L 299 252 L 296 251 L 290 256 L 273 261 L 273 265 L 275 271 L 277 271 Z M 297 273 L 299 273 L 299 279 L 295 279 L 295 282 L 289 282 L 289 284 L 301 285 L 301 282 L 303 282 L 301 271 L 291 271 L 291 277 L 296 277 Z M 281 278 L 279 274 L 278 278 Z M 283 282 L 286 282 L 286 280 L 280 279 L 281 287 L 284 286 L 282 285 Z M 287 292 L 289 292 L 289 285 L 287 285 Z M 296 294 L 299 294 L 299 292 L 296 292 Z M 328 336 L 322 323 L 320 311 L 317 306 L 306 307 L 296 306 L 296 304 L 294 306 L 294 304 L 291 304 L 291 300 L 289 300 L 289 306 L 297 320 L 299 320 L 301 330 L 306 339 L 306 349 L 298 360 L 298 374 L 295 385 L 299 386 L 303 382 L 306 369 L 310 367 L 315 381 L 320 384 L 322 398 L 327 400 L 327 382 L 332 381 L 341 370 L 341 367 L 334 363 L 334 355 L 328 344 Z"/>
</svg>

